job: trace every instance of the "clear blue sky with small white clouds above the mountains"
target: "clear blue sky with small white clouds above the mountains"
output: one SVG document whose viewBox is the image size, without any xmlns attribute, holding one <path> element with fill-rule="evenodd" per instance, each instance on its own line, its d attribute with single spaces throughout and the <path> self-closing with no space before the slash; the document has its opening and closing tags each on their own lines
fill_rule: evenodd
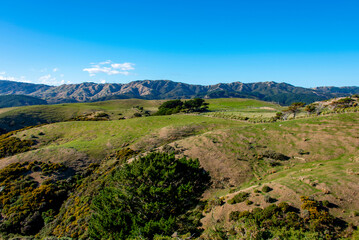
<svg viewBox="0 0 359 240">
<path fill-rule="evenodd" d="M 0 78 L 359 85 L 357 0 L 0 0 Z"/>
</svg>

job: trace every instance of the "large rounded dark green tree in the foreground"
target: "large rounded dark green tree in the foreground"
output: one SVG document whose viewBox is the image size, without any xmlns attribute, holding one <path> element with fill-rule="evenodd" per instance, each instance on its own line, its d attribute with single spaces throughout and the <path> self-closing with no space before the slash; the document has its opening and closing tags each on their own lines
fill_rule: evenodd
<svg viewBox="0 0 359 240">
<path fill-rule="evenodd" d="M 180 216 L 199 203 L 209 184 L 198 160 L 152 153 L 124 164 L 93 200 L 90 237 L 151 239 L 189 231 Z"/>
</svg>

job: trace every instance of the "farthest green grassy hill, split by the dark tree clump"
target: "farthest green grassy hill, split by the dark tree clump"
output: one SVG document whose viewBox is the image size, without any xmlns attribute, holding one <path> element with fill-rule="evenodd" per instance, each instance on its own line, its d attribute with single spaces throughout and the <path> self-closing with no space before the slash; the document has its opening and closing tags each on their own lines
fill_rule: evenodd
<svg viewBox="0 0 359 240">
<path fill-rule="evenodd" d="M 279 106 L 267 102 L 249 99 L 209 99 L 210 110 L 225 114 L 239 112 L 263 113 L 272 116 Z M 76 117 L 106 113 L 102 120 L 118 120 L 131 118 L 134 113 L 146 115 L 157 111 L 164 100 L 120 99 L 94 103 L 68 103 L 47 106 L 29 106 L 0 109 L 0 128 L 13 131 L 27 126 L 43 123 L 62 122 Z M 142 109 L 142 108 L 143 109 Z M 273 108 L 273 109 L 272 109 Z M 253 115 L 252 114 L 252 115 Z M 257 114 L 258 115 L 258 114 Z M 259 114 L 260 115 L 260 114 Z M 89 119 L 94 120 L 94 119 Z"/>
</svg>

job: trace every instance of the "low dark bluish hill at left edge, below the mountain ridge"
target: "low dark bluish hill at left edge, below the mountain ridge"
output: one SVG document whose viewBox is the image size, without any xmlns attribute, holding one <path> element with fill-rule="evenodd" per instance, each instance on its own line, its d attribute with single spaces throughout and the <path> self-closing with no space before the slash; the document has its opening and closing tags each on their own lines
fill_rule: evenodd
<svg viewBox="0 0 359 240">
<path fill-rule="evenodd" d="M 3 95 L 0 96 L 0 108 L 18 107 L 29 105 L 43 105 L 47 102 L 43 99 L 25 95 Z"/>
</svg>

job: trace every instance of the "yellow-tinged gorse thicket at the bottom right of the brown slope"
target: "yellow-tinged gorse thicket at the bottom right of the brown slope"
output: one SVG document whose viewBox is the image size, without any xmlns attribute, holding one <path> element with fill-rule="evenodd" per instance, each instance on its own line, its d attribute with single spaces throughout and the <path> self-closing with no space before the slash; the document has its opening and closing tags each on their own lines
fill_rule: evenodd
<svg viewBox="0 0 359 240">
<path fill-rule="evenodd" d="M 345 222 L 334 218 L 322 202 L 301 197 L 302 214 L 288 203 L 271 204 L 252 211 L 233 211 L 236 222 L 234 239 L 339 239 L 344 236 Z M 306 214 L 307 213 L 307 214 Z"/>
</svg>

